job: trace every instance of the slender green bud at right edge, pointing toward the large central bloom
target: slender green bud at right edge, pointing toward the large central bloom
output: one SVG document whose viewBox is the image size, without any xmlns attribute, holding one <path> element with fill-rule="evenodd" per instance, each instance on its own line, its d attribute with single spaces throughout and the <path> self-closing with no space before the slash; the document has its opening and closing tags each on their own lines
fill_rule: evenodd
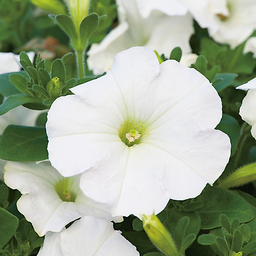
<svg viewBox="0 0 256 256">
<path fill-rule="evenodd" d="M 256 179 L 256 163 L 248 164 L 236 170 L 227 178 L 220 181 L 221 188 L 234 188 L 252 182 Z"/>
</svg>

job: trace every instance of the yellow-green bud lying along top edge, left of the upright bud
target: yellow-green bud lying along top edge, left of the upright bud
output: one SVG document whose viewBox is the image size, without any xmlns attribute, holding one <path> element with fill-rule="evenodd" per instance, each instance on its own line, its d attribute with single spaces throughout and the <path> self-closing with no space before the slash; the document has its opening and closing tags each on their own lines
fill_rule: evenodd
<svg viewBox="0 0 256 256">
<path fill-rule="evenodd" d="M 58 14 L 67 14 L 67 8 L 65 4 L 61 3 L 58 0 L 30 0 L 35 6 L 51 12 L 55 15 Z"/>
</svg>

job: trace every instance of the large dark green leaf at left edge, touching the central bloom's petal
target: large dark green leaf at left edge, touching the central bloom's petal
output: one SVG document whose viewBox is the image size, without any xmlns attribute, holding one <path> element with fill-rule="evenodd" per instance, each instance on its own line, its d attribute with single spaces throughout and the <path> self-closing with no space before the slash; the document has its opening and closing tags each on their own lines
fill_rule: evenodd
<svg viewBox="0 0 256 256">
<path fill-rule="evenodd" d="M 0 137 L 0 158 L 8 161 L 42 161 L 48 158 L 44 128 L 9 125 Z"/>
</svg>

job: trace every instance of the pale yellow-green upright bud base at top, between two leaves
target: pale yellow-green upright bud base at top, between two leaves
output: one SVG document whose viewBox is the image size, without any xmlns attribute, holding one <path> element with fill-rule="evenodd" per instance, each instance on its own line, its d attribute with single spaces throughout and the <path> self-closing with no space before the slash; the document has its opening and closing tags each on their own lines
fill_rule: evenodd
<svg viewBox="0 0 256 256">
<path fill-rule="evenodd" d="M 68 0 L 70 15 L 75 24 L 77 35 L 79 35 L 82 20 L 88 15 L 89 4 L 90 0 Z"/>
</svg>

